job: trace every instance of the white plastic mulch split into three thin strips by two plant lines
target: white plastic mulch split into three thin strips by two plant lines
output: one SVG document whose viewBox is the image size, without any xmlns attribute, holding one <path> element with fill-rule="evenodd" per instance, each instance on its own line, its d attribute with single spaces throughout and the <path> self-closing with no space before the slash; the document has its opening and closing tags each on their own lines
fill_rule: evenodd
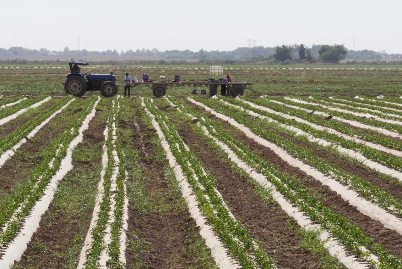
<svg viewBox="0 0 402 269">
<path fill-rule="evenodd" d="M 119 99 L 120 96 L 117 96 L 117 99 Z M 115 100 L 112 101 L 113 102 L 113 108 L 115 107 Z M 119 103 L 117 104 L 118 108 L 120 108 Z M 115 201 L 115 195 L 117 192 L 117 184 L 116 184 L 116 179 L 117 179 L 117 175 L 119 174 L 119 157 L 117 156 L 117 150 L 116 150 L 116 119 L 113 116 L 113 123 L 112 123 L 112 145 L 113 145 L 113 159 L 114 159 L 114 166 L 113 166 L 113 171 L 112 171 L 112 177 L 111 177 L 111 188 L 110 188 L 110 192 L 111 194 L 111 205 L 110 205 L 110 210 L 109 210 L 109 219 L 107 222 L 107 226 L 105 228 L 105 234 L 103 237 L 103 244 L 105 246 L 109 245 L 109 243 L 111 242 L 111 225 L 113 223 L 113 212 L 115 210 L 115 206 L 116 206 L 116 201 Z M 105 144 L 103 145 L 103 155 L 102 155 L 102 170 L 100 172 L 100 180 L 98 182 L 98 193 L 96 195 L 95 198 L 95 207 L 92 213 L 92 219 L 90 222 L 90 226 L 88 229 L 88 232 L 86 234 L 86 238 L 84 241 L 84 246 L 81 249 L 81 253 L 80 253 L 80 259 L 78 261 L 78 269 L 84 268 L 85 266 L 85 261 L 86 261 L 86 252 L 88 249 L 90 249 L 90 245 L 93 241 L 92 238 L 92 229 L 96 226 L 96 222 L 98 221 L 98 214 L 100 212 L 100 203 L 102 202 L 102 198 L 103 198 L 103 194 L 104 194 L 104 189 L 103 189 L 103 182 L 104 182 L 104 177 L 105 177 L 105 171 L 107 169 L 107 162 L 108 162 L 108 154 L 107 154 L 107 146 L 106 146 L 106 141 L 108 139 L 108 135 L 109 135 L 109 127 L 106 125 L 106 128 L 103 132 L 103 135 L 105 136 Z M 127 171 L 125 171 L 125 174 L 127 176 Z M 119 260 L 122 263 L 126 263 L 126 259 L 125 259 L 125 241 L 126 241 L 126 230 L 128 228 L 128 224 L 127 224 L 127 219 L 128 219 L 128 198 L 127 198 L 127 193 L 126 193 L 126 186 L 125 186 L 125 182 L 124 182 L 124 205 L 123 205 L 123 229 L 121 230 L 121 234 L 120 234 L 120 255 L 119 255 Z M 105 247 L 103 249 L 103 251 L 100 254 L 99 257 L 99 267 L 98 268 L 107 268 L 106 266 L 106 262 L 110 259 L 110 256 L 107 254 L 107 247 Z"/>
</svg>

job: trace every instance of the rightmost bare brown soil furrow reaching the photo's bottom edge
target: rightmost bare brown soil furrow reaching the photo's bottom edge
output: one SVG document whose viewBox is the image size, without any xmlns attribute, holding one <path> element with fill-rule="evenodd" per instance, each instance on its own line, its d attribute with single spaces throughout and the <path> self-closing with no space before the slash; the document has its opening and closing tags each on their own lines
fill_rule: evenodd
<svg viewBox="0 0 402 269">
<path fill-rule="evenodd" d="M 202 143 L 201 138 L 176 122 L 180 126 L 180 137 L 191 149 L 196 151 L 203 166 L 217 179 L 217 189 L 222 194 L 230 211 L 242 225 L 260 242 L 280 268 L 316 269 L 320 261 L 312 257 L 309 251 L 299 248 L 302 238 L 295 236 L 286 228 L 290 221 L 297 223 L 283 213 L 276 203 L 267 204 L 254 194 L 253 187 L 238 174 L 234 174 L 231 165 L 220 159 L 215 149 Z"/>
</svg>

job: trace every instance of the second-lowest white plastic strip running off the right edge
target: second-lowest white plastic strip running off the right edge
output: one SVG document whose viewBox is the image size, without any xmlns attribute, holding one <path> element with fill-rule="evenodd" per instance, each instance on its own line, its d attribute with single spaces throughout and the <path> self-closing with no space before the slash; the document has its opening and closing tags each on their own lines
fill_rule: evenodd
<svg viewBox="0 0 402 269">
<path fill-rule="evenodd" d="M 376 171 L 378 171 L 378 172 L 380 172 L 382 174 L 392 176 L 394 178 L 397 178 L 399 181 L 402 181 L 402 173 L 401 172 L 398 172 L 398 171 L 396 171 L 394 169 L 390 169 L 390 168 L 382 165 L 381 163 L 377 163 L 376 161 L 367 159 L 366 157 L 364 157 L 363 155 L 361 155 L 360 153 L 358 153 L 356 151 L 353 151 L 352 149 L 345 149 L 344 147 L 342 147 L 340 145 L 337 145 L 337 144 L 334 144 L 334 143 L 331 143 L 330 141 L 327 141 L 325 139 L 320 139 L 320 138 L 314 137 L 310 133 L 304 132 L 303 130 L 300 130 L 299 128 L 297 128 L 295 126 L 282 124 L 282 123 L 280 123 L 280 122 L 278 122 L 276 120 L 273 120 L 273 119 L 271 119 L 271 118 L 269 118 L 267 116 L 263 116 L 261 114 L 255 113 L 255 112 L 253 112 L 251 110 L 247 110 L 245 108 L 242 108 L 241 106 L 236 106 L 234 104 L 228 103 L 228 102 L 226 102 L 226 101 L 224 101 L 222 99 L 220 99 L 220 101 L 222 101 L 224 104 L 226 104 L 228 106 L 232 106 L 232 107 L 235 107 L 235 108 L 237 108 L 239 110 L 245 111 L 251 116 L 258 117 L 258 118 L 261 118 L 261 119 L 265 119 L 265 120 L 268 120 L 269 122 L 274 122 L 275 124 L 278 124 L 279 126 L 281 126 L 283 128 L 286 128 L 287 130 L 291 130 L 291 131 L 295 132 L 296 136 L 306 135 L 309 142 L 316 142 L 319 145 L 322 145 L 324 147 L 331 147 L 331 148 L 335 149 L 336 151 L 338 151 L 339 153 L 346 154 L 349 157 L 352 157 L 352 158 L 356 159 L 357 161 L 361 161 L 363 163 L 363 165 L 367 166 L 368 168 L 376 170 Z"/>
</svg>

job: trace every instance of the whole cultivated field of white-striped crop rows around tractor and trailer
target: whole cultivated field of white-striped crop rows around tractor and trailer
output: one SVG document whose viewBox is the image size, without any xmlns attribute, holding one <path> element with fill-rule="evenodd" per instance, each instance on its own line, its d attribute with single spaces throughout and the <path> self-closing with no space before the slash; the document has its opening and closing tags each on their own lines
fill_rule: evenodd
<svg viewBox="0 0 402 269">
<path fill-rule="evenodd" d="M 104 98 L 42 69 L 0 68 L 0 268 L 402 269 L 400 71 Z"/>
</svg>

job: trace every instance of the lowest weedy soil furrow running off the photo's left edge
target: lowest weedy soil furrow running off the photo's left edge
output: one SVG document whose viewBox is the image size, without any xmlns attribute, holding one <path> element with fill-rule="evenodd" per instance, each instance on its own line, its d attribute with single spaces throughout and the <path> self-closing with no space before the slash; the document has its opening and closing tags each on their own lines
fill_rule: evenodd
<svg viewBox="0 0 402 269">
<path fill-rule="evenodd" d="M 77 103 L 73 102 L 71 106 L 75 106 Z M 74 114 L 76 112 L 67 109 L 57 114 L 38 131 L 35 137 L 18 149 L 17 152 L 21 154 L 14 154 L 0 167 L 0 199 L 10 193 L 18 182 L 29 176 L 29 173 L 43 159 L 39 152 L 49 144 L 49 141 L 64 131 L 68 123 L 66 118 L 70 118 Z"/>
</svg>

